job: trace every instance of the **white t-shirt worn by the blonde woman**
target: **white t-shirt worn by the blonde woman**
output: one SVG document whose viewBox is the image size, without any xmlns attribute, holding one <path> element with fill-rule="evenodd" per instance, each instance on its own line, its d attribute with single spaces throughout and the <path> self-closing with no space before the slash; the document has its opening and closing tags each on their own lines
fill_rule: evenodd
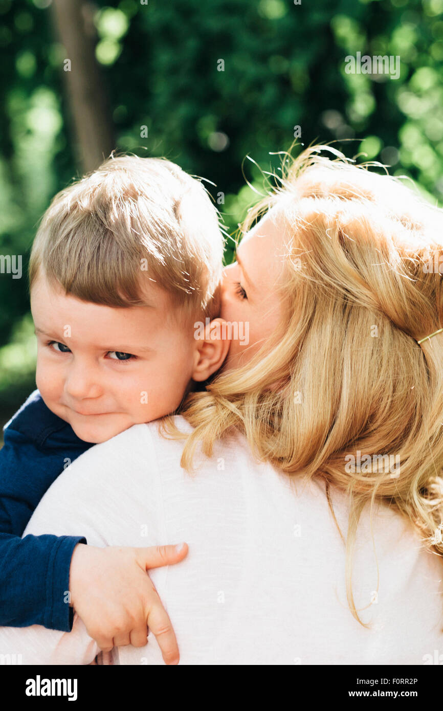
<svg viewBox="0 0 443 711">
<path fill-rule="evenodd" d="M 199 456 L 193 476 L 180 467 L 182 451 L 156 422 L 92 447 L 60 474 L 23 535 L 85 535 L 96 546 L 186 541 L 182 562 L 150 572 L 181 664 L 420 665 L 443 653 L 443 562 L 407 521 L 377 508 L 373 541 L 369 511 L 361 517 L 353 592 L 366 629 L 348 609 L 345 545 L 321 481 L 257 464 L 240 435 Z M 346 535 L 346 497 L 332 498 Z M 0 653 L 21 653 L 23 664 L 87 664 L 99 651 L 77 615 L 70 633 L 0 629 Z M 114 649 L 112 662 L 164 663 L 153 635 L 146 647 Z"/>
</svg>

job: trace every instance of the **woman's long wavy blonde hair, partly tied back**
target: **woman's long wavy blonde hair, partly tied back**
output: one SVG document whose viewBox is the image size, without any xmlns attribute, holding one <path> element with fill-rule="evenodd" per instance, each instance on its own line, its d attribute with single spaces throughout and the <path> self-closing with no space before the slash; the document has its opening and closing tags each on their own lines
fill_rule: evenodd
<svg viewBox="0 0 443 711">
<path fill-rule="evenodd" d="M 443 333 L 417 343 L 443 325 L 443 211 L 326 146 L 287 154 L 283 167 L 243 227 L 279 210 L 283 321 L 250 362 L 188 395 L 181 415 L 195 429 L 181 463 L 191 469 L 199 443 L 210 456 L 235 428 L 289 476 L 348 492 L 347 594 L 360 621 L 351 563 L 367 503 L 395 508 L 443 554 Z M 164 426 L 183 437 L 171 419 Z"/>
</svg>

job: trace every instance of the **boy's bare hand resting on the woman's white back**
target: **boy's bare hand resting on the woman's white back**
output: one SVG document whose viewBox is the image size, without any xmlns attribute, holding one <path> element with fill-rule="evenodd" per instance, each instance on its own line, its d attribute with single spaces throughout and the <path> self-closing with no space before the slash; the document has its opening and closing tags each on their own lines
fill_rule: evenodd
<svg viewBox="0 0 443 711">
<path fill-rule="evenodd" d="M 187 553 L 187 543 L 146 548 L 75 546 L 70 564 L 70 604 L 100 649 L 110 651 L 127 644 L 143 647 L 149 626 L 165 663 L 178 663 L 171 620 L 146 571 L 174 565 Z"/>
</svg>

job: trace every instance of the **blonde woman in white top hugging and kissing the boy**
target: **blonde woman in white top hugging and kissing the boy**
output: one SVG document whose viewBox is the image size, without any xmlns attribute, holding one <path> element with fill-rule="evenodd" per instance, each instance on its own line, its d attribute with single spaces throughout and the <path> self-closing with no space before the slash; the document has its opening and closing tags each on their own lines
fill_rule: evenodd
<svg viewBox="0 0 443 711">
<path fill-rule="evenodd" d="M 82 455 L 25 532 L 186 540 L 151 576 L 181 663 L 422 664 L 443 643 L 442 213 L 317 152 L 225 270 L 222 316 L 249 345 L 163 434 L 137 425 Z M 1 653 L 19 650 L 98 651 L 78 618 L 70 634 L 1 629 Z M 112 662 L 162 658 L 152 640 Z"/>
</svg>

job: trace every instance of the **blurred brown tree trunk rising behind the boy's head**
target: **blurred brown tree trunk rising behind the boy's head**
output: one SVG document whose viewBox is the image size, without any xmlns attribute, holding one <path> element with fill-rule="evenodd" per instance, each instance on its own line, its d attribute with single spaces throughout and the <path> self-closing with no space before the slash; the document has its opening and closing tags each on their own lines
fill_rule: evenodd
<svg viewBox="0 0 443 711">
<path fill-rule="evenodd" d="M 107 93 L 95 58 L 92 33 L 86 31 L 83 0 L 53 0 L 55 32 L 70 60 L 63 71 L 73 117 L 75 154 L 82 172 L 97 168 L 114 149 L 114 130 Z M 67 63 L 63 63 L 65 69 Z"/>
</svg>

